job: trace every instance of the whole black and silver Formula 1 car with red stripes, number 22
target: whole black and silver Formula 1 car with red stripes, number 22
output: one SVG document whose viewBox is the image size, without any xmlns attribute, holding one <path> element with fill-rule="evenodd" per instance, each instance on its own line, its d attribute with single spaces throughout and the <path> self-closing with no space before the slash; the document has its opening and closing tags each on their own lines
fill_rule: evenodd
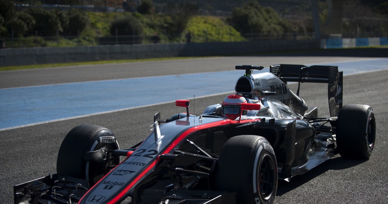
<svg viewBox="0 0 388 204">
<path fill-rule="evenodd" d="M 32 204 L 143 203 L 143 192 L 170 180 L 160 204 L 272 203 L 278 180 L 289 181 L 340 154 L 365 159 L 376 125 L 367 105 L 342 106 L 342 72 L 336 66 L 237 65 L 245 70 L 236 94 L 203 114 L 161 120 L 130 149 L 119 149 L 104 127 L 80 125 L 64 138 L 57 174 L 14 186 L 14 201 Z M 328 84 L 329 118 L 318 117 L 287 82 Z"/>
</svg>

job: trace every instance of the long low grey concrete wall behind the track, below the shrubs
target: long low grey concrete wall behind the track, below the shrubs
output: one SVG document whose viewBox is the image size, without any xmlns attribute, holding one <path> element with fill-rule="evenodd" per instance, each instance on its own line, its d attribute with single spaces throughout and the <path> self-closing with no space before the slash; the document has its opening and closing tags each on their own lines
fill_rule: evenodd
<svg viewBox="0 0 388 204">
<path fill-rule="evenodd" d="M 320 48 L 319 40 L 166 43 L 3 49 L 0 50 L 0 66 L 158 57 L 246 55 L 267 51 L 317 48 Z"/>
</svg>

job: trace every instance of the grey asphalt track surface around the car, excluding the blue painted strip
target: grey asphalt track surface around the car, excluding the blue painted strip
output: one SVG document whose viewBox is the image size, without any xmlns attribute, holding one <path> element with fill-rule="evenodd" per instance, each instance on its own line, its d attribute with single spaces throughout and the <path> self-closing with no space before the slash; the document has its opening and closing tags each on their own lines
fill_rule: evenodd
<svg viewBox="0 0 388 204">
<path fill-rule="evenodd" d="M 363 50 L 348 53 L 292 53 L 283 56 L 215 57 L 188 60 L 122 63 L 53 69 L 0 72 L 1 87 L 32 86 L 74 81 L 117 79 L 147 75 L 165 75 L 217 70 L 232 70 L 236 64 L 256 64 L 268 67 L 276 63 L 326 63 L 359 60 L 372 57 Z M 374 50 L 376 51 L 376 50 Z M 381 52 L 385 53 L 381 56 Z M 379 57 L 388 57 L 386 49 Z M 303 56 L 304 55 L 304 56 Z M 144 72 L 143 72 L 144 70 Z M 367 71 L 367 70 L 365 70 Z M 131 75 L 130 72 L 133 73 Z M 125 74 L 126 73 L 126 74 Z M 9 79 L 4 81 L 3 79 Z M 168 83 L 168 82 L 166 82 Z M 235 83 L 235 82 L 231 82 Z M 343 81 L 344 104 L 371 105 L 376 117 L 376 146 L 367 160 L 343 159 L 335 156 L 290 182 L 279 182 L 275 203 L 388 203 L 388 70 L 346 75 Z M 163 85 L 161 85 L 163 86 Z M 291 85 L 296 90 L 296 84 Z M 166 90 L 168 93 L 168 90 Z M 141 96 L 142 93 L 139 93 Z M 302 84 L 300 95 L 309 106 L 319 107 L 319 115 L 327 116 L 327 87 L 322 84 Z M 98 96 L 96 96 L 98 97 Z M 208 105 L 221 103 L 225 95 L 196 98 L 191 106 L 199 113 Z M 92 100 L 92 99 L 91 99 Z M 195 105 L 194 105 L 195 104 Z M 55 173 L 56 156 L 63 137 L 80 124 L 94 124 L 112 130 L 121 148 L 142 141 L 149 134 L 153 115 L 162 118 L 182 112 L 181 107 L 166 103 L 91 117 L 44 123 L 30 127 L 0 131 L 1 168 L 0 203 L 13 203 L 13 185 Z M 184 111 L 184 110 L 183 110 Z M 156 203 L 168 183 L 159 182 L 145 192 L 145 203 Z"/>
</svg>

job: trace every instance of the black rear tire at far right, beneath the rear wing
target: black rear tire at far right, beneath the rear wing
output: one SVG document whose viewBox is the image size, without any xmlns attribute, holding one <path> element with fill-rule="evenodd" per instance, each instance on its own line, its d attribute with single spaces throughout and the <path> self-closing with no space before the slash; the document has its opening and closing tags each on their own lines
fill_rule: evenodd
<svg viewBox="0 0 388 204">
<path fill-rule="evenodd" d="M 376 122 L 371 106 L 345 105 L 338 113 L 336 144 L 344 158 L 367 159 L 376 139 Z"/>
</svg>

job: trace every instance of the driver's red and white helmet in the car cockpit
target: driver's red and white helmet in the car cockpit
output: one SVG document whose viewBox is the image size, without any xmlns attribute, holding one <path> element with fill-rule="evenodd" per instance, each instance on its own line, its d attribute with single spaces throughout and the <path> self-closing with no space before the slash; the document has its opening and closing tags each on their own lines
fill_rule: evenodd
<svg viewBox="0 0 388 204">
<path fill-rule="evenodd" d="M 229 96 L 225 97 L 225 99 L 222 101 L 223 117 L 230 120 L 236 120 L 237 117 L 240 117 L 241 103 L 248 102 L 239 94 L 230 94 Z M 244 112 L 242 115 L 244 115 Z"/>
</svg>

